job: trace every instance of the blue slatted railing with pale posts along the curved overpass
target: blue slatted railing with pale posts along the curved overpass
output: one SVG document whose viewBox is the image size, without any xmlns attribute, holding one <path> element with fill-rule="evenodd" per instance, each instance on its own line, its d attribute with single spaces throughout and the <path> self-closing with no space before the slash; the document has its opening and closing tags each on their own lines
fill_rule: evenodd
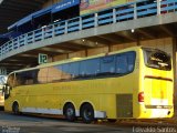
<svg viewBox="0 0 177 133">
<path fill-rule="evenodd" d="M 177 0 L 157 0 L 157 2 L 152 3 L 144 0 L 129 2 L 100 12 L 60 21 L 22 34 L 1 45 L 0 57 L 12 50 L 61 34 L 175 11 L 177 11 Z"/>
</svg>

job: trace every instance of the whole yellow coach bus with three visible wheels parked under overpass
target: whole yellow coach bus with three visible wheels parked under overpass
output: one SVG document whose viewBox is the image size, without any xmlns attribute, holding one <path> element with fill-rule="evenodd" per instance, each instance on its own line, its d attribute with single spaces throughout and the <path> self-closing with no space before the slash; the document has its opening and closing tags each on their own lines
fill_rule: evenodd
<svg viewBox="0 0 177 133">
<path fill-rule="evenodd" d="M 156 119 L 174 114 L 170 55 L 133 47 L 9 74 L 4 110 L 82 117 Z"/>
</svg>

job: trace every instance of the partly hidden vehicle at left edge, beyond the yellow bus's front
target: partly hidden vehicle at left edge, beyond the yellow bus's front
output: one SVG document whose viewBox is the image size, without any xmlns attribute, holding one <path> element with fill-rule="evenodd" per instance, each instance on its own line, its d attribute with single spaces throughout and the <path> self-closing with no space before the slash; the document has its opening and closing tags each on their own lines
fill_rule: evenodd
<svg viewBox="0 0 177 133">
<path fill-rule="evenodd" d="M 3 108 L 4 105 L 3 86 L 6 82 L 7 82 L 7 75 L 0 75 L 0 108 Z"/>
</svg>

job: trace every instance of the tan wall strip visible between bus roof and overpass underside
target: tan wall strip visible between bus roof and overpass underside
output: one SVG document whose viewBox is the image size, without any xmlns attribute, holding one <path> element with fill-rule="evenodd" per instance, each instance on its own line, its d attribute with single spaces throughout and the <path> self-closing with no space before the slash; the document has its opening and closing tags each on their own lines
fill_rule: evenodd
<svg viewBox="0 0 177 133">
<path fill-rule="evenodd" d="M 64 60 L 66 58 L 84 58 L 84 57 L 88 57 L 88 55 L 106 53 L 106 52 L 108 52 L 108 49 L 111 51 L 117 51 L 117 50 L 122 50 L 125 48 L 135 47 L 137 44 L 138 44 L 137 42 L 132 42 L 132 43 L 114 44 L 114 45 L 111 45 L 111 48 L 103 47 L 103 48 L 88 49 L 86 51 L 83 50 L 83 51 L 69 53 L 69 55 L 63 54 L 63 55 L 53 57 L 53 61 L 60 61 L 60 60 Z M 152 48 L 160 49 L 163 51 L 166 51 L 170 55 L 173 55 L 173 38 L 140 41 L 139 44 L 144 45 L 144 47 L 152 47 Z"/>
</svg>

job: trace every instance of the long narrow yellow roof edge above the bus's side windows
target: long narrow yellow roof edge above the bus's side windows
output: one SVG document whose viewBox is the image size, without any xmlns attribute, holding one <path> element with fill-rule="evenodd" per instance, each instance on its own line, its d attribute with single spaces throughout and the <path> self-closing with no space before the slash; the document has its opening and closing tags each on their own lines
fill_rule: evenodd
<svg viewBox="0 0 177 133">
<path fill-rule="evenodd" d="M 126 48 L 126 49 L 123 49 L 123 50 L 113 51 L 113 52 L 108 52 L 108 53 L 101 53 L 101 54 L 97 54 L 97 55 L 91 55 L 91 57 L 86 57 L 86 58 L 73 58 L 73 59 L 67 59 L 67 60 L 63 60 L 63 61 L 44 63 L 44 64 L 40 64 L 38 66 L 34 66 L 34 68 L 28 68 L 28 69 L 17 70 L 17 71 L 11 72 L 10 74 L 18 73 L 18 72 L 23 72 L 23 71 L 29 71 L 29 70 L 42 69 L 42 68 L 58 65 L 58 64 L 64 64 L 64 63 L 75 62 L 75 61 L 83 61 L 83 60 L 87 60 L 87 59 L 94 59 L 94 58 L 100 58 L 100 57 L 104 57 L 104 55 L 111 55 L 111 54 L 115 54 L 115 53 L 122 53 L 122 52 L 133 51 L 133 50 L 137 51 L 137 50 L 139 50 L 142 48 L 143 47 L 131 47 L 131 48 Z"/>
</svg>

